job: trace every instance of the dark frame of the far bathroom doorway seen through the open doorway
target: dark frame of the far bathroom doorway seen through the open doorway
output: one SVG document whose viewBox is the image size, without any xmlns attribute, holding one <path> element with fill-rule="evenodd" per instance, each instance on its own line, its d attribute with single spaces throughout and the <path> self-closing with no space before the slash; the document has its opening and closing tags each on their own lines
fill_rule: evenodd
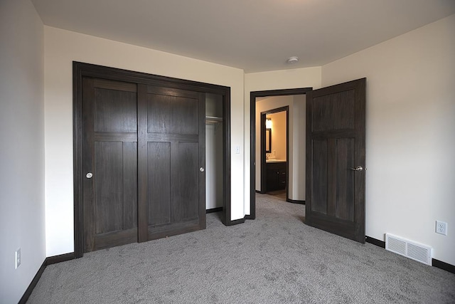
<svg viewBox="0 0 455 304">
<path fill-rule="evenodd" d="M 261 112 L 261 191 L 267 192 L 267 158 L 265 156 L 265 118 L 267 114 L 286 112 L 286 200 L 289 199 L 289 105 Z M 271 146 L 272 147 L 272 146 Z M 266 189 L 266 191 L 264 191 Z"/>
</svg>

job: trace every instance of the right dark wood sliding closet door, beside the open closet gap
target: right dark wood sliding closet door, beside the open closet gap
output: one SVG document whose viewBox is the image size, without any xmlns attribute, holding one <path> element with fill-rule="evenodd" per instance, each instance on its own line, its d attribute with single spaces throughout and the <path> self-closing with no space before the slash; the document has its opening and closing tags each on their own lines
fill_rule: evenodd
<svg viewBox="0 0 455 304">
<path fill-rule="evenodd" d="M 205 229 L 205 93 L 139 90 L 139 241 Z"/>
</svg>

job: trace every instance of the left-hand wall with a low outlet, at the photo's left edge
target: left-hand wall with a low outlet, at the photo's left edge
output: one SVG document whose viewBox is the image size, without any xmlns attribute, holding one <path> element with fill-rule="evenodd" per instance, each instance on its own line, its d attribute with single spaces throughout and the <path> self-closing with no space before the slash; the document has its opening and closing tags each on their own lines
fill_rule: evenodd
<svg viewBox="0 0 455 304">
<path fill-rule="evenodd" d="M 0 1 L 0 41 L 0 302 L 17 303 L 45 260 L 43 23 L 30 1 Z"/>
</svg>

